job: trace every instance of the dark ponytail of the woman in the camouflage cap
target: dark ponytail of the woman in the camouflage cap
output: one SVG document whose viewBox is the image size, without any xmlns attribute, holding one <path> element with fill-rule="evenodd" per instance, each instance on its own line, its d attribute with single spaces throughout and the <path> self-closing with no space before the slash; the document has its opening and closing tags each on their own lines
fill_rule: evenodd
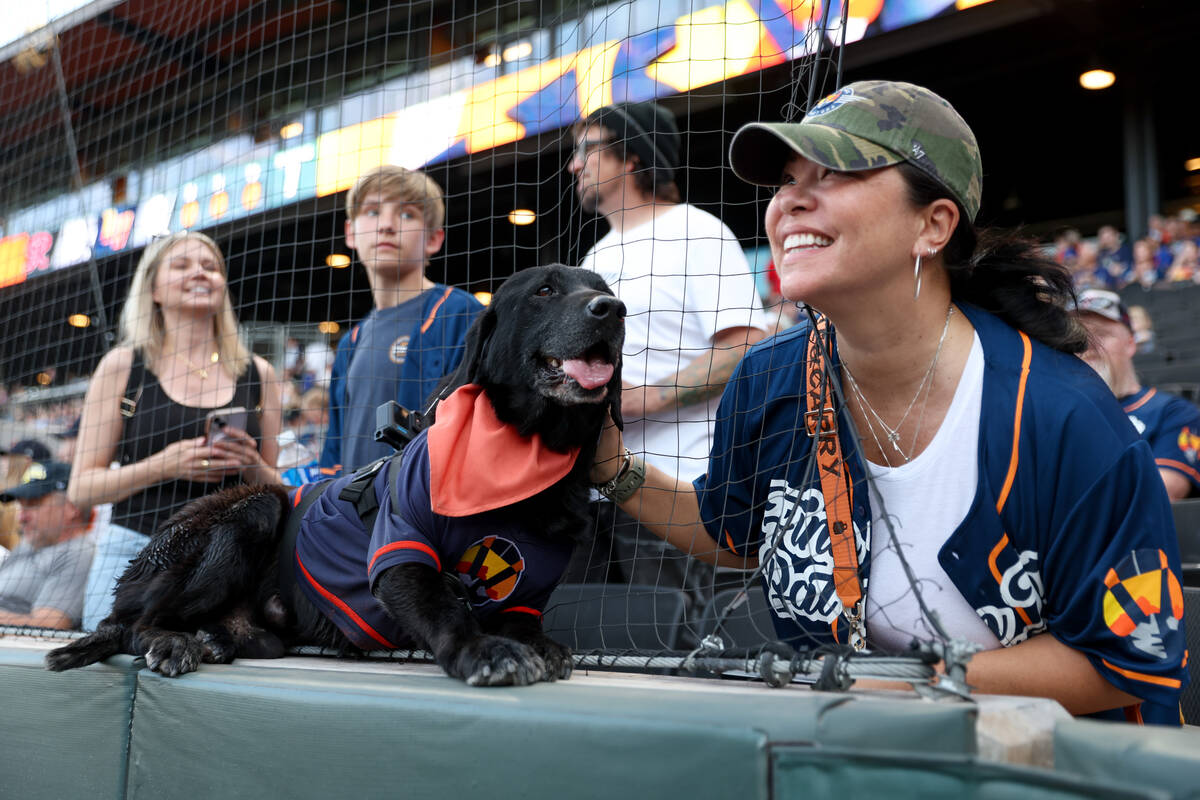
<svg viewBox="0 0 1200 800">
<path fill-rule="evenodd" d="M 1068 311 L 1075 293 L 1067 267 L 1014 231 L 976 228 L 949 190 L 922 169 L 907 162 L 896 169 L 913 205 L 948 199 L 959 206 L 959 225 L 943 251 L 952 297 L 996 314 L 1055 350 L 1087 349 L 1087 332 Z"/>
</svg>

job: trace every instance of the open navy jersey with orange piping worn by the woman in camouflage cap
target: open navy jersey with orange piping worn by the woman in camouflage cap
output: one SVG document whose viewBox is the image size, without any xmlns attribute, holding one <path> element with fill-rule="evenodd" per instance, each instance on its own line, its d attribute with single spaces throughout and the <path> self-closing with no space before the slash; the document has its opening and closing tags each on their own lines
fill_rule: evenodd
<svg viewBox="0 0 1200 800">
<path fill-rule="evenodd" d="M 984 350 L 979 440 L 965 443 L 976 447 L 979 477 L 938 563 L 1001 644 L 1049 632 L 1142 699 L 1098 716 L 1178 724 L 1188 680 L 1178 543 L 1150 446 L 1080 359 L 959 307 Z M 804 428 L 808 329 L 742 359 L 695 486 L 709 534 L 762 561 L 779 638 L 820 646 L 845 642 L 845 615 Z M 842 410 L 859 581 L 869 594 L 871 509 L 847 431 Z"/>
</svg>

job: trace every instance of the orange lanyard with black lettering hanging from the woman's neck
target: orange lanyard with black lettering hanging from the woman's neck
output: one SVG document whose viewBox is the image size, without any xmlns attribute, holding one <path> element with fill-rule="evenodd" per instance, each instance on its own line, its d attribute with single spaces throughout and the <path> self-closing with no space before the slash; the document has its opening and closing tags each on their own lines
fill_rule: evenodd
<svg viewBox="0 0 1200 800">
<path fill-rule="evenodd" d="M 854 521 L 851 513 L 854 487 L 841 455 L 838 411 L 833 403 L 829 377 L 824 371 L 827 354 L 822 342 L 827 327 L 828 320 L 821 317 L 809 331 L 804 429 L 814 439 L 817 452 L 817 473 L 821 476 L 821 494 L 824 495 L 829 549 L 833 555 L 834 590 L 846 616 L 850 644 L 854 650 L 863 650 L 866 646 L 863 584 L 858 579 L 858 549 L 854 547 Z M 838 638 L 836 620 L 834 638 Z"/>
</svg>

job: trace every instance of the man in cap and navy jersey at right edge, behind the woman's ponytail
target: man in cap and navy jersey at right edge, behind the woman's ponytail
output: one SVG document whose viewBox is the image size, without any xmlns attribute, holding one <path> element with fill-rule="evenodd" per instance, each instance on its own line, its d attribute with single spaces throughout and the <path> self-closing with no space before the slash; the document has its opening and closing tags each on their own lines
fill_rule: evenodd
<svg viewBox="0 0 1200 800">
<path fill-rule="evenodd" d="M 1079 294 L 1076 313 L 1090 336 L 1082 359 L 1100 374 L 1150 444 L 1168 495 L 1181 500 L 1200 494 L 1200 408 L 1138 381 L 1133 366 L 1138 343 L 1120 295 L 1086 289 Z"/>
</svg>

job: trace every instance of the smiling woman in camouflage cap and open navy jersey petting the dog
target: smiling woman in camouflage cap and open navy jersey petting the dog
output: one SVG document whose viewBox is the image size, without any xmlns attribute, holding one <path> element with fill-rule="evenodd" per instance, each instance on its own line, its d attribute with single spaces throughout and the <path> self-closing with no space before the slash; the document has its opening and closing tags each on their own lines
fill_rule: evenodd
<svg viewBox="0 0 1200 800">
<path fill-rule="evenodd" d="M 928 89 L 859 82 L 799 122 L 745 126 L 730 157 L 775 187 L 781 290 L 814 313 L 743 357 L 707 474 L 647 467 L 622 506 L 698 558 L 761 565 L 781 640 L 959 642 L 980 650 L 978 691 L 1178 724 L 1166 494 L 1074 356 L 1067 273 L 976 230 L 967 124 Z M 593 480 L 620 446 L 610 431 Z"/>
</svg>

